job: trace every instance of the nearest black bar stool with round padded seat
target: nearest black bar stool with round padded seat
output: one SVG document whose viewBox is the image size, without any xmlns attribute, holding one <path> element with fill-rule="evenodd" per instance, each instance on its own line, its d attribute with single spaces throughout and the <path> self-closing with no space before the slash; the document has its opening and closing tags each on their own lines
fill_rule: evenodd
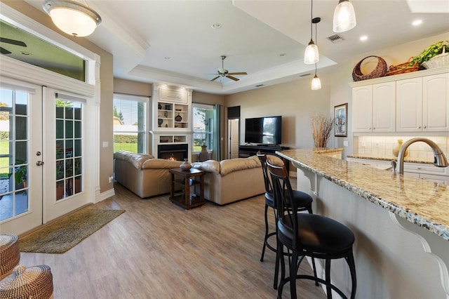
<svg viewBox="0 0 449 299">
<path fill-rule="evenodd" d="M 278 298 L 282 297 L 283 286 L 288 282 L 290 282 L 291 298 L 296 298 L 296 279 L 310 279 L 316 283 L 325 284 L 328 298 L 332 298 L 332 290 L 336 291 L 342 298 L 347 298 L 330 281 L 330 260 L 344 258 L 351 273 L 351 299 L 354 299 L 356 296 L 356 266 L 352 253 L 354 234 L 349 228 L 333 219 L 321 215 L 294 213 L 297 204 L 295 201 L 289 200 L 293 197 L 293 190 L 285 166 L 275 166 L 268 161 L 267 167 L 272 178 L 274 199 L 278 211 L 278 251 L 276 255 L 281 260 L 281 281 L 279 282 Z M 288 258 L 289 277 L 286 277 L 283 246 L 292 251 L 291 258 Z M 316 277 L 316 274 L 314 277 L 297 274 L 304 256 L 310 256 L 312 260 L 313 258 L 326 260 L 325 280 Z"/>
</svg>

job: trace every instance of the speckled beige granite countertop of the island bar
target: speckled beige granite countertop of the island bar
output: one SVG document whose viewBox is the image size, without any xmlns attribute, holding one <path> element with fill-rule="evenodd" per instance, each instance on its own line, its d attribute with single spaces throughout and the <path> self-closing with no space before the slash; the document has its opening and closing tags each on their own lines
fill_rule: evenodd
<svg viewBox="0 0 449 299">
<path fill-rule="evenodd" d="M 334 159 L 315 149 L 276 154 L 449 241 L 448 186 Z"/>
</svg>

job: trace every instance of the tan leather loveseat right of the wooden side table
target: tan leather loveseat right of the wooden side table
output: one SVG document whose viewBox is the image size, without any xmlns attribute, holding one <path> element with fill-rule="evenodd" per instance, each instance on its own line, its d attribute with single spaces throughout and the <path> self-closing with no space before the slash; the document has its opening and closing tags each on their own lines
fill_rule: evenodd
<svg viewBox="0 0 449 299">
<path fill-rule="evenodd" d="M 204 175 L 204 197 L 216 204 L 229 204 L 265 192 L 262 168 L 257 156 L 195 162 Z"/>
</svg>

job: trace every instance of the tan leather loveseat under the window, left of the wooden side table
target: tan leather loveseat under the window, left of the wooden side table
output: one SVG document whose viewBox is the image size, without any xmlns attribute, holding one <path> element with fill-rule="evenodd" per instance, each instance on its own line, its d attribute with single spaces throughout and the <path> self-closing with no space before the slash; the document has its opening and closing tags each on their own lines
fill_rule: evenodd
<svg viewBox="0 0 449 299">
<path fill-rule="evenodd" d="M 171 176 L 168 169 L 181 164 L 181 161 L 156 159 L 151 154 L 114 153 L 116 181 L 142 198 L 169 193 Z"/>
</svg>

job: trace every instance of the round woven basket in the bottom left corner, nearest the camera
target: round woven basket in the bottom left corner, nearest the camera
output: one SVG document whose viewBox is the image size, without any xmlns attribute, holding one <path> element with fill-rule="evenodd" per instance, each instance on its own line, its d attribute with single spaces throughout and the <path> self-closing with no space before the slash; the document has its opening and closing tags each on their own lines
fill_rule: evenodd
<svg viewBox="0 0 449 299">
<path fill-rule="evenodd" d="M 15 267 L 13 274 L 0 281 L 0 298 L 53 299 L 53 275 L 50 267 Z"/>
</svg>

